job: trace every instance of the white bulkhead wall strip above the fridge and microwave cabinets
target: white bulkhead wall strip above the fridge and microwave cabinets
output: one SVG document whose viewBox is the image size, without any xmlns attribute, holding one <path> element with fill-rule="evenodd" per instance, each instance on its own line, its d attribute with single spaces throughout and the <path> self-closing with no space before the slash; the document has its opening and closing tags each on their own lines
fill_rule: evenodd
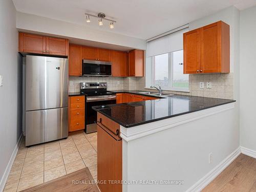
<svg viewBox="0 0 256 192">
<path fill-rule="evenodd" d="M 17 12 L 17 29 L 104 42 L 106 44 L 114 44 L 136 49 L 146 49 L 146 41 L 143 39 L 99 31 L 85 25 L 81 26 L 22 12 Z"/>
</svg>

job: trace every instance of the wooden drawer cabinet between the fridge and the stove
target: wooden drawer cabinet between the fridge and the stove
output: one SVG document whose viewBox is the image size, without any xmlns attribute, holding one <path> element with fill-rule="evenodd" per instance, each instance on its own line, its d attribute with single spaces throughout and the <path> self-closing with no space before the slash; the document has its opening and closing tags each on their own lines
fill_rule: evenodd
<svg viewBox="0 0 256 192">
<path fill-rule="evenodd" d="M 84 96 L 69 96 L 69 132 L 84 129 L 85 101 Z"/>
</svg>

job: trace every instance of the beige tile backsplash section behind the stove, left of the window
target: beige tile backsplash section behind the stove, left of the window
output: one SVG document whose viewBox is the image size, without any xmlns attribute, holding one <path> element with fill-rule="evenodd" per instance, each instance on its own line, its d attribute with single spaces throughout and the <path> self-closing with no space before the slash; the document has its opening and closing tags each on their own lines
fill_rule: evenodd
<svg viewBox="0 0 256 192">
<path fill-rule="evenodd" d="M 79 92 L 80 82 L 106 82 L 108 90 L 138 90 L 144 88 L 144 77 L 74 77 L 70 76 L 69 92 Z"/>
</svg>

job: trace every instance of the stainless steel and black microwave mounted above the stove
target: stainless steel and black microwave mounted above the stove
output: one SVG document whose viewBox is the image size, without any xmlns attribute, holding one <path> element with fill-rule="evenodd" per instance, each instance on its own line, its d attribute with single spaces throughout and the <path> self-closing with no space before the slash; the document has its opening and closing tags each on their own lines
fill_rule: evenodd
<svg viewBox="0 0 256 192">
<path fill-rule="evenodd" d="M 98 60 L 82 60 L 83 76 L 111 76 L 111 62 Z"/>
</svg>

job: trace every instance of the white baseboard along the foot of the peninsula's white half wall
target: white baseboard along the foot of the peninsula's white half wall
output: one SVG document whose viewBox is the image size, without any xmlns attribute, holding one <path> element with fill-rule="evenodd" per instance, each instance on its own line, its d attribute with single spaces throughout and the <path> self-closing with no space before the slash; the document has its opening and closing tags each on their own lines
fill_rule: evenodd
<svg viewBox="0 0 256 192">
<path fill-rule="evenodd" d="M 193 186 L 186 190 L 186 192 L 198 192 L 206 187 L 212 180 L 214 180 L 234 159 L 241 154 L 241 148 L 238 147 L 226 159 L 220 162 L 214 169 L 206 174 L 202 179 L 196 182 Z"/>
</svg>

